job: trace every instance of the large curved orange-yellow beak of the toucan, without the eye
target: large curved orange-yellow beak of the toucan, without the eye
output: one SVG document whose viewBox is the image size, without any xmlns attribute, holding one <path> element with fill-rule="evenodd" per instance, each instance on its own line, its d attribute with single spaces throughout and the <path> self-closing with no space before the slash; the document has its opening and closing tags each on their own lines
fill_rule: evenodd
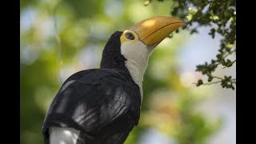
<svg viewBox="0 0 256 144">
<path fill-rule="evenodd" d="M 146 46 L 157 46 L 164 38 L 185 22 L 172 17 L 158 16 L 138 22 L 130 28 Z"/>
</svg>

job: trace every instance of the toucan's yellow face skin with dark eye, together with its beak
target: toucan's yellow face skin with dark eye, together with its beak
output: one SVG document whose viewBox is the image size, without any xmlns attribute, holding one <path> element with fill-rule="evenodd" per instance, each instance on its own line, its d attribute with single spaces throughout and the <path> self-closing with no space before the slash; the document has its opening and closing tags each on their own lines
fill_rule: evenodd
<svg viewBox="0 0 256 144">
<path fill-rule="evenodd" d="M 185 22 L 172 17 L 148 18 L 138 22 L 130 30 L 123 31 L 120 37 L 121 46 L 145 45 L 146 49 L 152 50 L 174 30 L 184 25 Z"/>
</svg>

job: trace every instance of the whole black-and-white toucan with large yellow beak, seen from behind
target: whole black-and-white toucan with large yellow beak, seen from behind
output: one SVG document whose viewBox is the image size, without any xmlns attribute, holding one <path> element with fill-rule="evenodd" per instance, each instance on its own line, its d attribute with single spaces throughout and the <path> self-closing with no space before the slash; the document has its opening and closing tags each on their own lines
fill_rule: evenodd
<svg viewBox="0 0 256 144">
<path fill-rule="evenodd" d="M 100 68 L 78 71 L 63 82 L 42 124 L 44 143 L 124 143 L 138 126 L 150 54 L 185 25 L 178 18 L 155 16 L 115 31 L 102 51 Z"/>
</svg>

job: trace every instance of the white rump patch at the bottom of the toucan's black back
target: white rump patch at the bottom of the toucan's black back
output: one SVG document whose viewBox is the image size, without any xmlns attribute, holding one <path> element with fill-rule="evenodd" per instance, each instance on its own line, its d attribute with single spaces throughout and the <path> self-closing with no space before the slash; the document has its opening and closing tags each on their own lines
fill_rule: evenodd
<svg viewBox="0 0 256 144">
<path fill-rule="evenodd" d="M 49 134 L 50 144 L 75 144 L 80 131 L 69 127 L 50 127 Z"/>
</svg>

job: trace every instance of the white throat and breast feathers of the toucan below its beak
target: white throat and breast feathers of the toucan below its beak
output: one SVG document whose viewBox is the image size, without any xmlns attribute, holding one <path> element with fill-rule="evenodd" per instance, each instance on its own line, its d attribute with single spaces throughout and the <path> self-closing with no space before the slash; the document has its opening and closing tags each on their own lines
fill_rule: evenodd
<svg viewBox="0 0 256 144">
<path fill-rule="evenodd" d="M 129 70 L 134 82 L 139 86 L 143 98 L 143 75 L 149 61 L 150 49 L 143 42 L 124 42 L 121 46 L 121 54 L 127 59 L 126 68 Z"/>
</svg>

